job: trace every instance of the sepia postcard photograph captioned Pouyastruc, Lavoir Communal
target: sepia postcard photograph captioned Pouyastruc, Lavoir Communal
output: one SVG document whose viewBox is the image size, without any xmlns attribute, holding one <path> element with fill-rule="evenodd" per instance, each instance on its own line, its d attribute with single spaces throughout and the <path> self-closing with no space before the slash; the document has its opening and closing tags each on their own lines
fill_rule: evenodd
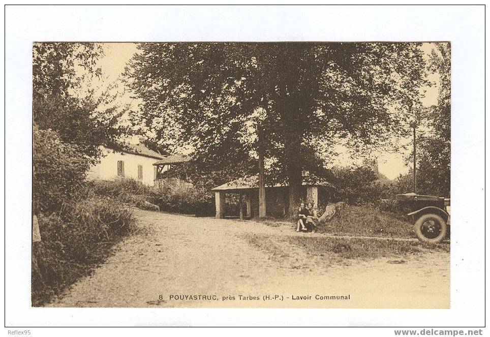
<svg viewBox="0 0 490 337">
<path fill-rule="evenodd" d="M 33 307 L 451 307 L 450 42 L 32 60 Z"/>
</svg>

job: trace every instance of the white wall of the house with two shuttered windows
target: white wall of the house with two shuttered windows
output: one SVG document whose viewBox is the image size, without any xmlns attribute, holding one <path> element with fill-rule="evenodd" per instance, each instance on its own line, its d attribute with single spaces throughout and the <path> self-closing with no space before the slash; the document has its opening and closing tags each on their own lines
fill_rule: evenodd
<svg viewBox="0 0 490 337">
<path fill-rule="evenodd" d="M 155 179 L 155 166 L 154 163 L 158 159 L 148 158 L 144 156 L 121 154 L 120 152 L 113 152 L 110 149 L 102 148 L 103 158 L 101 162 L 87 172 L 87 177 L 90 180 L 113 180 L 118 177 L 117 175 L 117 162 L 124 162 L 124 177 L 134 178 L 138 180 L 138 165 L 143 166 L 143 179 L 141 180 L 147 186 L 154 186 Z"/>
</svg>

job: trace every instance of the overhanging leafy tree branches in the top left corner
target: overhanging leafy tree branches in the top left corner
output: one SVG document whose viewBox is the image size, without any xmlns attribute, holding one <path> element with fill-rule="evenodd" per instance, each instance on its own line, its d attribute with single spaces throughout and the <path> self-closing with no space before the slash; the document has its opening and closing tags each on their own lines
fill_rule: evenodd
<svg viewBox="0 0 490 337">
<path fill-rule="evenodd" d="M 94 43 L 33 46 L 35 124 L 56 131 L 64 142 L 76 143 L 80 155 L 90 157 L 93 163 L 100 156 L 100 145 L 111 145 L 128 132 L 119 123 L 128 107 L 116 103 L 117 94 L 110 94 L 113 86 L 96 94 L 90 82 L 101 76 L 96 65 L 102 55 L 101 45 Z"/>
</svg>

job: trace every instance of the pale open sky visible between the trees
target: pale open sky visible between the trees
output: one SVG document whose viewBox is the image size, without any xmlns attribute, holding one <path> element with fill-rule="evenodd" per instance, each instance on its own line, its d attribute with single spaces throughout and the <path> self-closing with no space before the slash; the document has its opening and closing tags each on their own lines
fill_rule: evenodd
<svg viewBox="0 0 490 337">
<path fill-rule="evenodd" d="M 422 50 L 425 52 L 426 57 L 428 57 L 428 54 L 431 52 L 432 48 L 432 43 L 424 43 L 422 45 Z M 99 66 L 103 74 L 99 85 L 104 87 L 104 85 L 107 85 L 108 83 L 116 82 L 120 84 L 120 87 L 124 87 L 124 84 L 120 82 L 120 76 L 121 73 L 123 73 L 127 62 L 137 51 L 136 44 L 126 42 L 104 43 L 104 51 L 105 55 L 99 60 Z M 425 107 L 437 104 L 438 96 L 437 74 L 431 75 L 428 79 L 434 81 L 436 85 L 422 88 L 426 90 L 425 98 L 422 101 Z M 123 104 L 130 104 L 132 109 L 136 110 L 138 108 L 139 102 L 131 99 L 129 93 L 123 94 L 120 97 L 120 101 Z M 412 144 L 411 137 L 406 139 L 397 139 L 397 141 L 401 145 Z M 350 165 L 353 163 L 353 160 L 347 154 L 347 151 L 341 149 L 340 152 L 340 155 L 337 158 L 334 158 L 335 163 L 338 165 Z M 390 179 L 396 178 L 400 174 L 408 172 L 409 167 L 405 165 L 404 160 L 406 156 L 407 153 L 403 151 L 395 153 L 379 151 L 373 153 L 373 157 L 377 157 L 379 171 Z"/>
</svg>

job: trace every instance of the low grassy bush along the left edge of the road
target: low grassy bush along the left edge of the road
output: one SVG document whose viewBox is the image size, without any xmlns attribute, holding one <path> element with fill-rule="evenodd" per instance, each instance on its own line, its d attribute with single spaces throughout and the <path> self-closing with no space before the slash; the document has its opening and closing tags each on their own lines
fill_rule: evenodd
<svg viewBox="0 0 490 337">
<path fill-rule="evenodd" d="M 73 201 L 60 212 L 38 215 L 42 241 L 34 243 L 32 299 L 38 306 L 88 274 L 110 247 L 133 230 L 130 210 L 97 196 Z"/>
</svg>

